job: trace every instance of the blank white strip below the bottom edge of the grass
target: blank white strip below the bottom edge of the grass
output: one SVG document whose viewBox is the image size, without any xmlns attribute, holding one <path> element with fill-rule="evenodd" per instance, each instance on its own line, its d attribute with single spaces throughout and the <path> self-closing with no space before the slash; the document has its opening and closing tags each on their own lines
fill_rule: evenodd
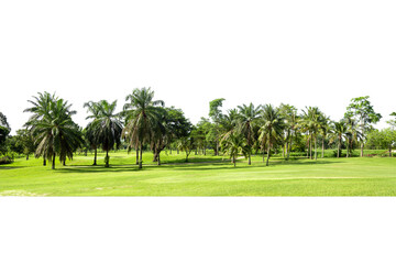
<svg viewBox="0 0 396 264">
<path fill-rule="evenodd" d="M 0 263 L 394 264 L 392 198 L 2 198 Z"/>
</svg>

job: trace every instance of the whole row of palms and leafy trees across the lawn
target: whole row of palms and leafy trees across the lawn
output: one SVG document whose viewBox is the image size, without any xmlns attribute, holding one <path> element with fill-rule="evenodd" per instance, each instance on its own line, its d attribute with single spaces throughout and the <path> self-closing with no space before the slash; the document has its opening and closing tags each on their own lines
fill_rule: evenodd
<svg viewBox="0 0 396 264">
<path fill-rule="evenodd" d="M 143 166 L 143 150 L 153 152 L 153 162 L 161 165 L 164 150 L 186 153 L 186 162 L 193 151 L 206 155 L 228 155 L 237 164 L 243 155 L 251 165 L 251 156 L 261 153 L 263 162 L 270 163 L 272 153 L 282 152 L 285 160 L 293 153 L 306 153 L 307 158 L 324 157 L 324 148 L 336 147 L 336 156 L 352 155 L 360 148 L 363 156 L 365 144 L 381 145 L 389 150 L 396 142 L 396 119 L 388 121 L 389 128 L 378 131 L 373 128 L 382 116 L 374 111 L 369 97 L 353 98 L 344 117 L 332 121 L 318 107 L 296 107 L 280 103 L 254 106 L 242 105 L 222 111 L 223 98 L 209 103 L 209 117 L 193 124 L 180 109 L 165 107 L 163 100 L 154 100 L 151 88 L 136 88 L 125 97 L 122 111 L 116 112 L 117 100 L 88 101 L 86 128 L 73 121 L 76 111 L 68 101 L 48 92 L 38 92 L 29 100 L 31 113 L 24 129 L 9 136 L 11 131 L 7 118 L 0 113 L 0 152 L 7 150 L 24 153 L 26 158 L 34 153 L 55 168 L 55 160 L 65 165 L 77 151 L 92 151 L 97 165 L 97 152 L 106 153 L 105 166 L 110 166 L 109 152 L 120 147 L 135 150 L 136 164 Z M 396 113 L 392 113 L 396 118 Z M 320 146 L 319 146 L 320 144 Z M 321 154 L 318 151 L 321 148 Z"/>
</svg>

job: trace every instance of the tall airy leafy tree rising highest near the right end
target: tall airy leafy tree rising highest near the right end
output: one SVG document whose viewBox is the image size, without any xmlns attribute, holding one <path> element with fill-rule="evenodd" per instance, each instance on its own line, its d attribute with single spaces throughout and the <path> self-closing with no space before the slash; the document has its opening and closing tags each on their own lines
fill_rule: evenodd
<svg viewBox="0 0 396 264">
<path fill-rule="evenodd" d="M 374 111 L 373 106 L 369 101 L 369 96 L 352 98 L 351 103 L 346 108 L 345 118 L 355 118 L 359 120 L 361 133 L 361 156 L 363 156 L 364 141 L 366 132 L 370 132 L 373 127 L 372 123 L 377 123 L 382 116 Z"/>
</svg>

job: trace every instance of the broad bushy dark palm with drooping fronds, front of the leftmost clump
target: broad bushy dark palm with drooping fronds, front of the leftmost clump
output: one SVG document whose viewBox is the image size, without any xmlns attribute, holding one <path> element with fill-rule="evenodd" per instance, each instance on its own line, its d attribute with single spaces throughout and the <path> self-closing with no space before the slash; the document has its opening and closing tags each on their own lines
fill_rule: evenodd
<svg viewBox="0 0 396 264">
<path fill-rule="evenodd" d="M 63 99 L 55 99 L 48 105 L 48 112 L 41 119 L 31 120 L 32 134 L 36 135 L 37 148 L 35 156 L 52 161 L 55 169 L 56 154 L 65 165 L 66 158 L 73 158 L 73 153 L 82 143 L 78 125 L 73 122 L 72 105 Z"/>
</svg>

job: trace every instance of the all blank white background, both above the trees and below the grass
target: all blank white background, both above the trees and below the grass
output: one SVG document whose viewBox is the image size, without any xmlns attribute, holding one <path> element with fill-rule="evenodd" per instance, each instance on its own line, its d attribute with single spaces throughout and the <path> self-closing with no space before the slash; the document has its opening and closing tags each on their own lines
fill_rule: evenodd
<svg viewBox="0 0 396 264">
<path fill-rule="evenodd" d="M 395 109 L 394 1 L 0 1 L 0 111 L 136 87 L 209 101 Z M 380 125 L 381 127 L 381 125 Z M 382 122 L 384 127 L 384 122 Z M 1 198 L 0 263 L 395 263 L 394 198 Z"/>
</svg>

